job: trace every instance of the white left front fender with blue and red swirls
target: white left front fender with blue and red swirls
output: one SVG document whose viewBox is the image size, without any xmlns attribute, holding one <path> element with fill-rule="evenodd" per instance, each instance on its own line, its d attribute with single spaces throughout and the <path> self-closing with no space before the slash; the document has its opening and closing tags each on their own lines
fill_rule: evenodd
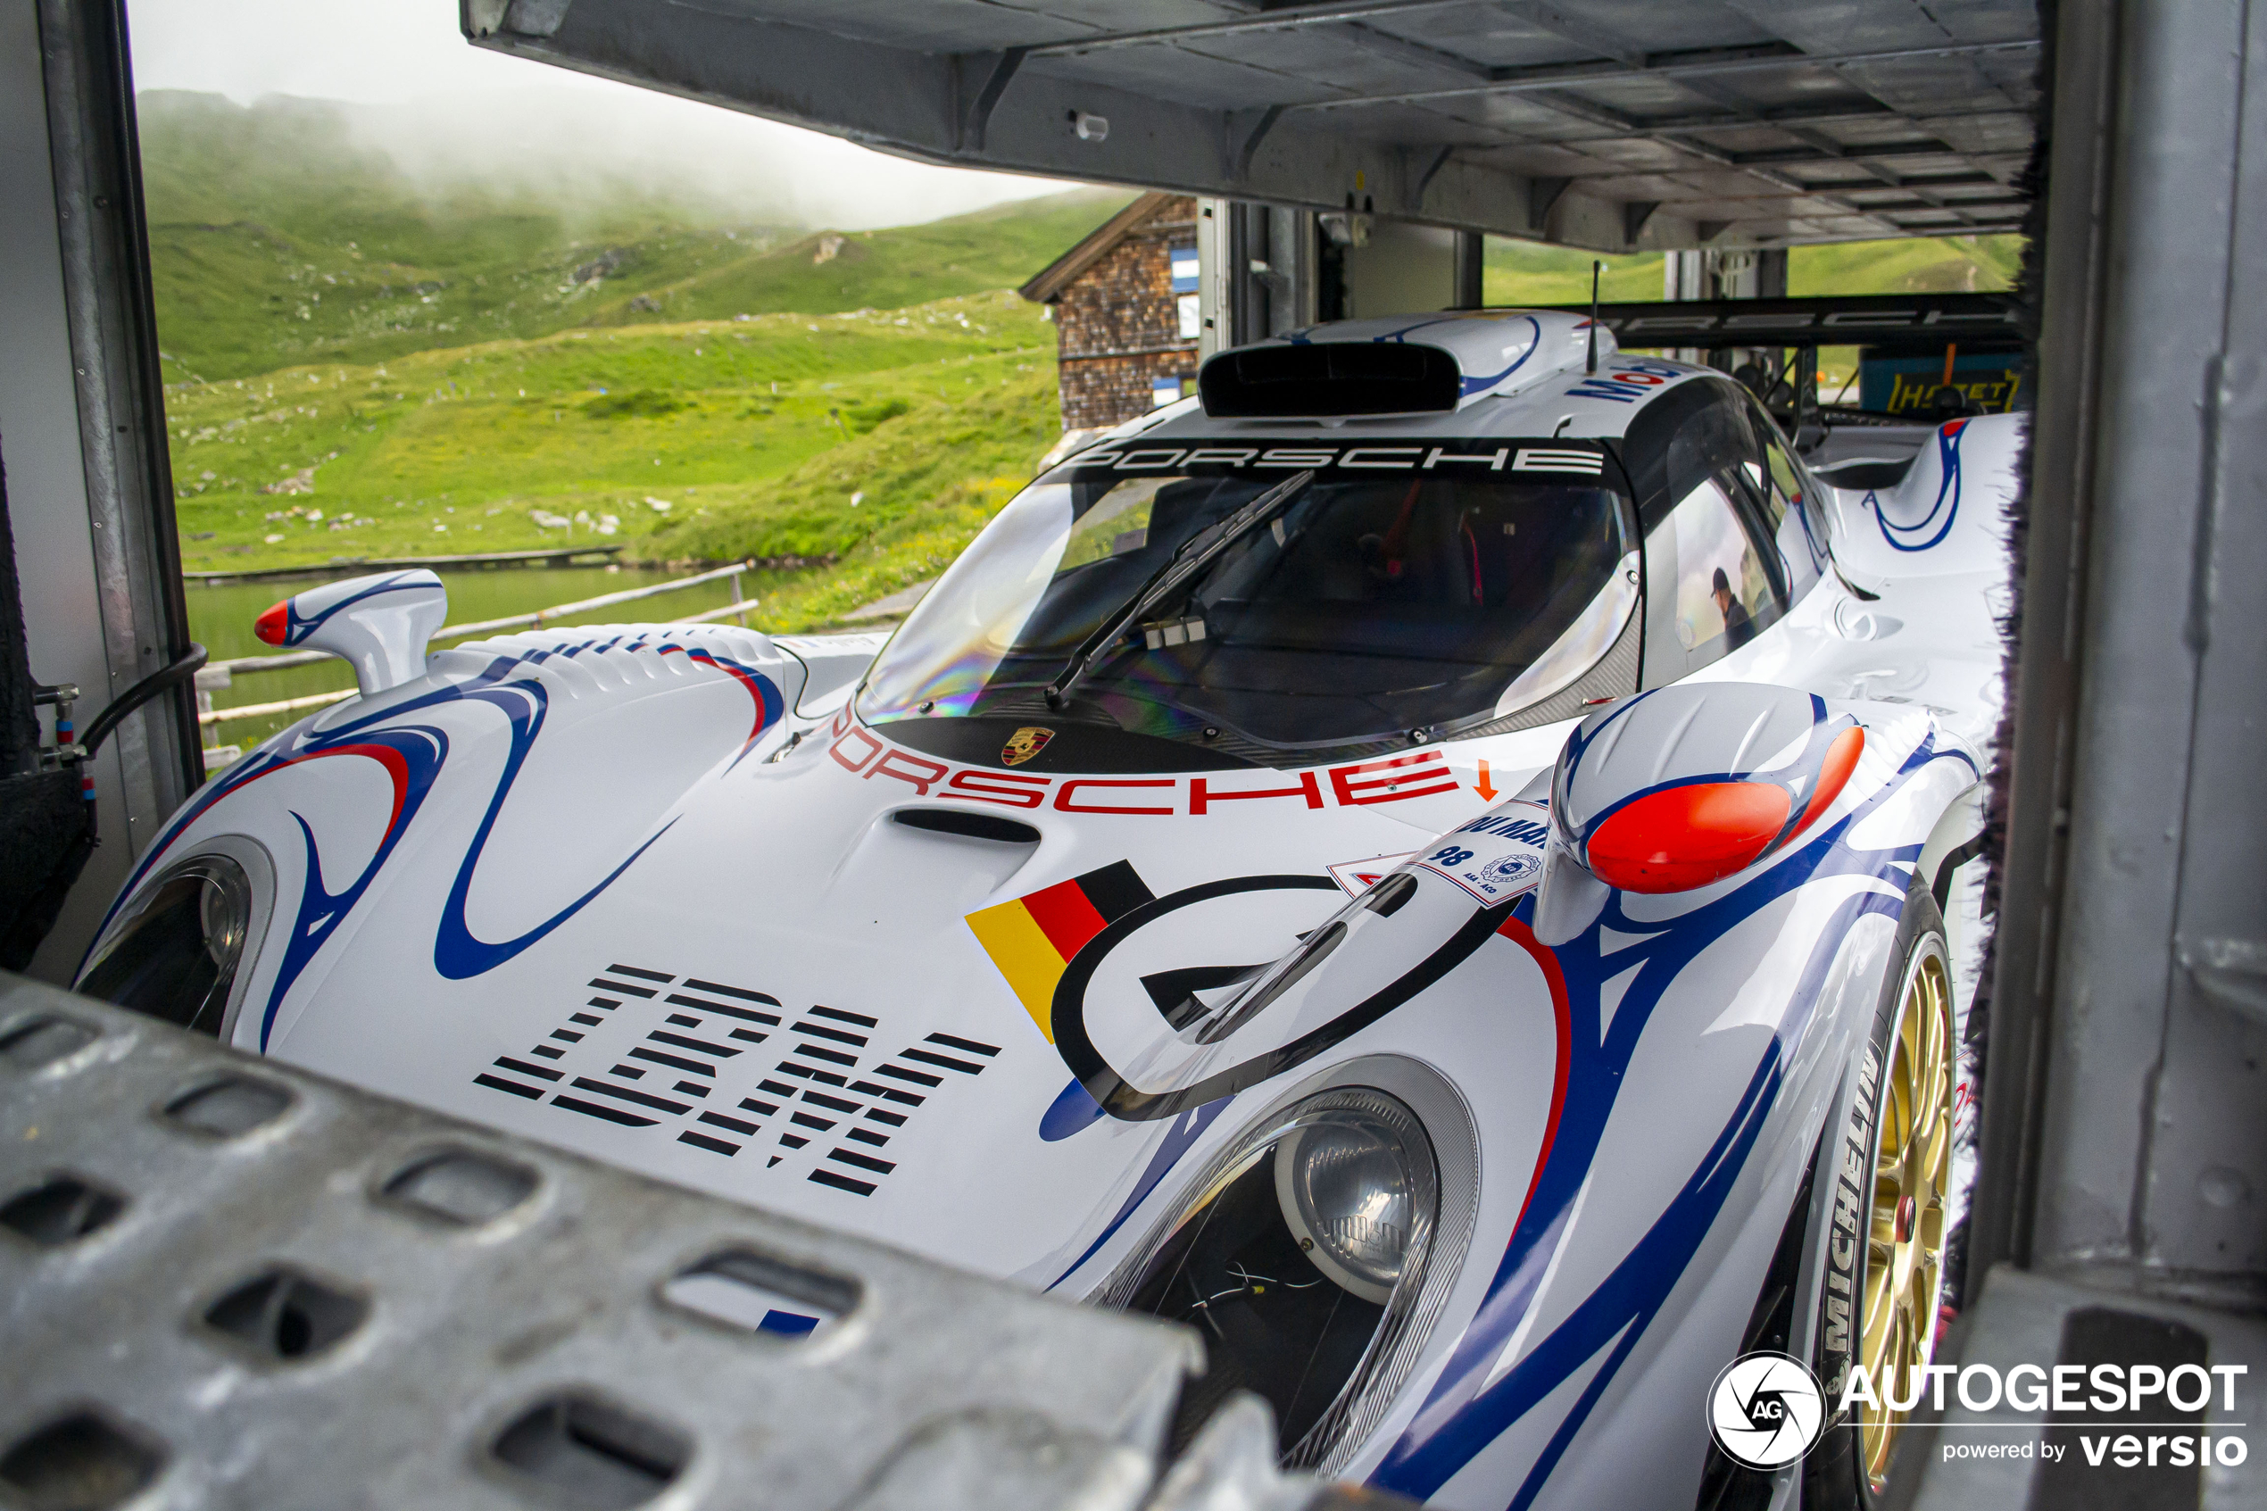
<svg viewBox="0 0 2267 1511">
<path fill-rule="evenodd" d="M 88 967 L 147 886 L 227 843 L 258 847 L 268 890 L 229 1042 L 272 1049 L 410 865 L 422 881 L 388 911 L 392 947 L 481 974 L 612 883 L 701 782 L 759 759 L 800 686 L 796 657 L 721 625 L 433 655 L 426 675 L 333 705 L 206 782 L 120 890 Z"/>
</svg>

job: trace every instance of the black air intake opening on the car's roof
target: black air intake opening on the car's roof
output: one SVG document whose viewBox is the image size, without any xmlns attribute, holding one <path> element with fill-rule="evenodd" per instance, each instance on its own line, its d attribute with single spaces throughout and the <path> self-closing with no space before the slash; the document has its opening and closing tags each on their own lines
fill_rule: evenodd
<svg viewBox="0 0 2267 1511">
<path fill-rule="evenodd" d="M 1213 356 L 1197 394 L 1215 419 L 1437 415 L 1462 399 L 1462 372 L 1417 342 L 1245 347 Z"/>
</svg>

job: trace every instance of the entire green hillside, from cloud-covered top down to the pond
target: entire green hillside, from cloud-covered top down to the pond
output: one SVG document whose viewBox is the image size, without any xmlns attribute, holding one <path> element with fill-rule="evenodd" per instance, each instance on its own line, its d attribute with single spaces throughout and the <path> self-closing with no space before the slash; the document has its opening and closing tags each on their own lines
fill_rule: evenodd
<svg viewBox="0 0 2267 1511">
<path fill-rule="evenodd" d="M 1002 290 L 1127 199 L 803 233 L 438 195 L 320 102 L 141 109 L 184 566 L 755 555 L 773 630 L 934 575 L 1029 478 L 1054 331 Z"/>
</svg>

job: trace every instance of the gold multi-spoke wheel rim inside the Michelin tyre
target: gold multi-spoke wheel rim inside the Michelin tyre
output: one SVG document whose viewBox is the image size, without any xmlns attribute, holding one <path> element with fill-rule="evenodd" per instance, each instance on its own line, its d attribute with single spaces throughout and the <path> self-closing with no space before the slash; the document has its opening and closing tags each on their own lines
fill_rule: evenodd
<svg viewBox="0 0 2267 1511">
<path fill-rule="evenodd" d="M 1888 1402 L 1916 1400 L 1916 1375 L 1936 1350 L 1950 1178 L 1952 988 L 1943 954 L 1931 949 L 1920 956 L 1897 1004 L 1873 1155 L 1859 1364 L 1882 1405 L 1859 1402 L 1859 1434 L 1875 1493 L 1888 1479 L 1888 1459 L 1907 1418 Z"/>
</svg>

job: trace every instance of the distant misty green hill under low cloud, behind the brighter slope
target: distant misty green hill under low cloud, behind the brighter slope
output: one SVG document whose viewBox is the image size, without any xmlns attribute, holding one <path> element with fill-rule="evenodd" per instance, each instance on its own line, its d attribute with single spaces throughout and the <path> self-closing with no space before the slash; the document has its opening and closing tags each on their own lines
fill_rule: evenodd
<svg viewBox="0 0 2267 1511">
<path fill-rule="evenodd" d="M 1009 288 L 1127 195 L 1077 190 L 832 242 L 619 183 L 562 202 L 410 181 L 320 100 L 138 100 L 168 381 L 370 365 L 569 326 L 900 308 Z"/>
</svg>

